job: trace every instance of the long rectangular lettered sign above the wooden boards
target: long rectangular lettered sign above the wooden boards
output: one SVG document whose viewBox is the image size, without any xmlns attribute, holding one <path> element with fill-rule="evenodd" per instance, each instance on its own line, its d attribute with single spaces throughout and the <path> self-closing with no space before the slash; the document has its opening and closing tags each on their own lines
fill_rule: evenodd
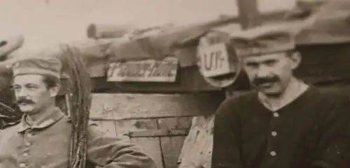
<svg viewBox="0 0 350 168">
<path fill-rule="evenodd" d="M 175 82 L 178 64 L 176 58 L 111 63 L 107 81 Z"/>
</svg>

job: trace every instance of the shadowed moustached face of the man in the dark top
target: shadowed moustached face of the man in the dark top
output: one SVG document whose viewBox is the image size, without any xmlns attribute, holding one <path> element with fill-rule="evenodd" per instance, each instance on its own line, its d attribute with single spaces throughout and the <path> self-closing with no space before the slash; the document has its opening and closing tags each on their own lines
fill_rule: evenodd
<svg viewBox="0 0 350 168">
<path fill-rule="evenodd" d="M 299 54 L 285 52 L 247 56 L 244 69 L 253 86 L 267 96 L 280 96 L 293 77 L 293 70 L 300 63 Z"/>
</svg>

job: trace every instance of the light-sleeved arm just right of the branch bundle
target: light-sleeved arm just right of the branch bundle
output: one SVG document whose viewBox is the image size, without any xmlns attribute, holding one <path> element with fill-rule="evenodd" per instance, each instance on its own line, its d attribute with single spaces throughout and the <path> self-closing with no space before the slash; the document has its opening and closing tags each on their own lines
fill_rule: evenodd
<svg viewBox="0 0 350 168">
<path fill-rule="evenodd" d="M 87 160 L 99 167 L 155 168 L 153 159 L 138 146 L 120 137 L 106 137 L 90 127 L 87 139 Z"/>
</svg>

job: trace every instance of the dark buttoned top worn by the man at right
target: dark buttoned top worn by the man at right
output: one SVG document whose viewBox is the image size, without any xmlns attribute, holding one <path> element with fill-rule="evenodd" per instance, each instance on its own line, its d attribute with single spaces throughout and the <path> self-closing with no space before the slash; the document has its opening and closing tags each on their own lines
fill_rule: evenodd
<svg viewBox="0 0 350 168">
<path fill-rule="evenodd" d="M 349 168 L 349 98 L 310 86 L 275 112 L 258 93 L 228 98 L 214 125 L 213 168 Z"/>
</svg>

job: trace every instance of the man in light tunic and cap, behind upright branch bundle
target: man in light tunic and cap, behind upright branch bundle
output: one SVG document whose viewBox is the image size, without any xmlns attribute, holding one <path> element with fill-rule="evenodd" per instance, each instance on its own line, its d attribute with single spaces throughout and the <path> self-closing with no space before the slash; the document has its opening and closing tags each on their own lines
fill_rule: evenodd
<svg viewBox="0 0 350 168">
<path fill-rule="evenodd" d="M 62 63 L 30 58 L 13 63 L 13 91 L 24 113 L 18 125 L 0 131 L 1 168 L 66 168 L 71 121 L 55 106 Z M 86 167 L 153 168 L 150 156 L 118 137 L 89 127 Z"/>
</svg>

